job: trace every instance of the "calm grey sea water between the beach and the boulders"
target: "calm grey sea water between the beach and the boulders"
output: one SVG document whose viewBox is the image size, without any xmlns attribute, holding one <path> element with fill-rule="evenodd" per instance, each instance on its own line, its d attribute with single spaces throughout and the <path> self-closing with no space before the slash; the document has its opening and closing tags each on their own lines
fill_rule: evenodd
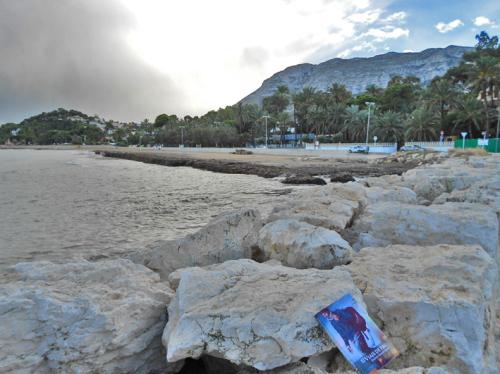
<svg viewBox="0 0 500 374">
<path fill-rule="evenodd" d="M 278 181 L 103 158 L 0 150 L 0 267 L 118 256 L 182 237 L 221 212 L 266 211 Z"/>
</svg>

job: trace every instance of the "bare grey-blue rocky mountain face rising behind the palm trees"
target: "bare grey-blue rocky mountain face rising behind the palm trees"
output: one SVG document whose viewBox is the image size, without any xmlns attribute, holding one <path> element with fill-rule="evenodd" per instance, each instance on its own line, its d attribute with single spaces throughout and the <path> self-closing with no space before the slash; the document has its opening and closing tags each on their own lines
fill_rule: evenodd
<svg viewBox="0 0 500 374">
<path fill-rule="evenodd" d="M 262 104 L 262 99 L 274 93 L 280 85 L 292 93 L 304 87 L 326 90 L 332 83 L 344 84 L 352 93 L 362 92 L 374 84 L 386 87 L 394 75 L 416 76 L 423 83 L 459 64 L 462 55 L 472 47 L 448 46 L 430 48 L 417 53 L 389 52 L 369 58 L 334 58 L 321 64 L 290 66 L 266 79 L 259 89 L 242 99 L 244 104 Z"/>
</svg>

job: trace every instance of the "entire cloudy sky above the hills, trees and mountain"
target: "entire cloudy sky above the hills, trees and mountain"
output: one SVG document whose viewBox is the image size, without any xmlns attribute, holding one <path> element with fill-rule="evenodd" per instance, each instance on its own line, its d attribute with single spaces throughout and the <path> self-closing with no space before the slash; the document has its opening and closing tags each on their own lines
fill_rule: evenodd
<svg viewBox="0 0 500 374">
<path fill-rule="evenodd" d="M 500 1 L 0 0 L 0 123 L 232 105 L 287 66 L 500 34 Z"/>
</svg>

